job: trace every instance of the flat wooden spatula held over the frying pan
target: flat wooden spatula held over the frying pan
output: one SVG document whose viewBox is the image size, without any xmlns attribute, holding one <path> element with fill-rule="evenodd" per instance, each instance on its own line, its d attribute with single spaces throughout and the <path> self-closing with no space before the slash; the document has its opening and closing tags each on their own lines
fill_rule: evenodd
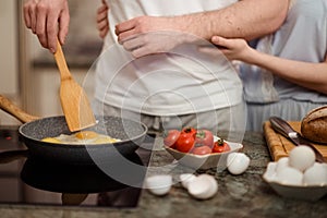
<svg viewBox="0 0 327 218">
<path fill-rule="evenodd" d="M 61 45 L 57 40 L 55 59 L 60 71 L 60 100 L 70 131 L 78 131 L 96 123 L 94 113 L 83 88 L 70 73 Z"/>
</svg>

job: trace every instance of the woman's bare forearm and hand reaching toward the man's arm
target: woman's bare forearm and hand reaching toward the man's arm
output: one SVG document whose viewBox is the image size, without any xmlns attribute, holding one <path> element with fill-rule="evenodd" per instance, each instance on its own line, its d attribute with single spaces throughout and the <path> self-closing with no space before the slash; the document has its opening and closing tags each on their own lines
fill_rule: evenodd
<svg viewBox="0 0 327 218">
<path fill-rule="evenodd" d="M 294 84 L 327 94 L 327 56 L 324 62 L 311 63 L 259 52 L 249 47 L 243 39 L 226 39 L 215 36 L 211 40 L 215 45 L 225 47 L 221 52 L 230 60 L 240 60 L 267 69 Z"/>
</svg>

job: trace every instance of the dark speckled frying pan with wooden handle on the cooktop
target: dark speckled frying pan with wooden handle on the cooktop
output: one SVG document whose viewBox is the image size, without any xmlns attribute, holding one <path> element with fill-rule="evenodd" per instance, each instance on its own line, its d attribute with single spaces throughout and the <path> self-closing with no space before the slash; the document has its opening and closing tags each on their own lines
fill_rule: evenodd
<svg viewBox="0 0 327 218">
<path fill-rule="evenodd" d="M 28 155 L 45 161 L 70 165 L 93 165 L 134 153 L 147 133 L 145 124 L 118 117 L 96 117 L 98 123 L 87 130 L 107 134 L 121 142 L 99 145 L 66 145 L 41 142 L 45 137 L 72 134 L 63 116 L 37 119 L 22 111 L 0 95 L 0 108 L 24 122 L 19 132 L 28 147 Z"/>
</svg>

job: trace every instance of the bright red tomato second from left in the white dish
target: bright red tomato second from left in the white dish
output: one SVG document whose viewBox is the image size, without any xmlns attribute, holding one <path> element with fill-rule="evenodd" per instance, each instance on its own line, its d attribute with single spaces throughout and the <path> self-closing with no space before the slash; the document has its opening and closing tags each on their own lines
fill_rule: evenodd
<svg viewBox="0 0 327 218">
<path fill-rule="evenodd" d="M 196 130 L 193 128 L 183 129 L 178 141 L 175 148 L 182 153 L 189 153 L 195 144 Z"/>
</svg>

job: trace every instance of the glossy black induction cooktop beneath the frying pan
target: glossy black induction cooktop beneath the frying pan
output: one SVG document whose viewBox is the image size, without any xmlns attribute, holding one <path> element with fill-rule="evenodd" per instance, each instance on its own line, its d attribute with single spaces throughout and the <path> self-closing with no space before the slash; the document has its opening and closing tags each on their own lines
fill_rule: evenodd
<svg viewBox="0 0 327 218">
<path fill-rule="evenodd" d="M 72 166 L 29 158 L 17 128 L 0 126 L 0 204 L 136 207 L 154 140 L 108 165 Z"/>
</svg>

